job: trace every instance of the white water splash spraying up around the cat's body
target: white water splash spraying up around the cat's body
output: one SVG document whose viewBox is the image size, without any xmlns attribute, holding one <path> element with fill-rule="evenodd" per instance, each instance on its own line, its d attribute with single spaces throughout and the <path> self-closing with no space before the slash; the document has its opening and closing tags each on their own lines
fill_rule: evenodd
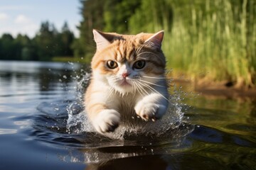
<svg viewBox="0 0 256 170">
<path fill-rule="evenodd" d="M 75 76 L 74 79 L 79 79 L 77 81 L 77 91 L 78 96 L 76 101 L 70 103 L 67 106 L 68 111 L 68 121 L 67 130 L 68 133 L 79 134 L 82 132 L 95 132 L 90 121 L 87 119 L 87 114 L 82 108 L 82 95 L 84 94 L 85 88 L 89 84 L 90 74 L 81 70 L 82 74 Z M 176 87 L 175 87 L 176 88 Z M 114 130 L 114 132 L 108 132 L 105 135 L 112 139 L 117 140 L 127 140 L 132 139 L 134 136 L 144 135 L 146 137 L 154 136 L 159 137 L 166 134 L 169 130 L 174 130 L 181 126 L 183 121 L 183 105 L 181 101 L 183 100 L 181 91 L 174 89 L 174 94 L 169 98 L 169 109 L 161 120 L 156 122 L 144 123 L 141 126 L 129 126 L 129 125 L 119 125 L 119 127 Z M 82 112 L 81 112 L 82 110 Z M 138 121 L 139 118 L 132 118 L 134 121 Z M 142 120 L 139 120 L 142 121 Z M 95 132 L 96 133 L 96 132 Z M 174 134 L 172 134 L 174 135 Z M 177 134 L 176 134 L 177 135 Z"/>
</svg>

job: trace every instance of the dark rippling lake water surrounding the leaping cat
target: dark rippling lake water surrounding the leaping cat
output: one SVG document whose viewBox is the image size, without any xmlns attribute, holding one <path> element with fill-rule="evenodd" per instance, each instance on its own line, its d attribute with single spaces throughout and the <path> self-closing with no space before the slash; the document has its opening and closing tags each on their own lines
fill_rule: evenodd
<svg viewBox="0 0 256 170">
<path fill-rule="evenodd" d="M 0 62 L 0 169 L 256 169 L 256 100 L 176 86 L 160 130 L 95 134 L 80 64 Z M 161 125 L 160 125 L 161 124 Z"/>
</svg>

